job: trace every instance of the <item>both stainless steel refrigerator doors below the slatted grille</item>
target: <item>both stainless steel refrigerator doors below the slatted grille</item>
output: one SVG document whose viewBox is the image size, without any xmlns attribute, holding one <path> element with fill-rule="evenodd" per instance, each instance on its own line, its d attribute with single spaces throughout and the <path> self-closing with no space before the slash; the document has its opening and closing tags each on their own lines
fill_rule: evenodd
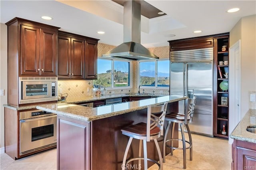
<svg viewBox="0 0 256 170">
<path fill-rule="evenodd" d="M 196 96 L 196 106 L 190 131 L 213 135 L 212 61 L 171 63 L 170 93 Z M 194 93 L 194 94 L 191 94 Z M 184 101 L 179 102 L 179 112 L 184 112 Z"/>
</svg>

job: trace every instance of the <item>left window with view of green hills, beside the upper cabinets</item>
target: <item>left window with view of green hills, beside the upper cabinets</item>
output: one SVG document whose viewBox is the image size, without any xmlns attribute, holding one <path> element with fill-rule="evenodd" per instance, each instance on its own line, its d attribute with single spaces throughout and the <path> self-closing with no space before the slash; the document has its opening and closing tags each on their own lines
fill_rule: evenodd
<svg viewBox="0 0 256 170">
<path fill-rule="evenodd" d="M 98 79 L 95 87 L 130 87 L 130 62 L 98 59 Z"/>
</svg>

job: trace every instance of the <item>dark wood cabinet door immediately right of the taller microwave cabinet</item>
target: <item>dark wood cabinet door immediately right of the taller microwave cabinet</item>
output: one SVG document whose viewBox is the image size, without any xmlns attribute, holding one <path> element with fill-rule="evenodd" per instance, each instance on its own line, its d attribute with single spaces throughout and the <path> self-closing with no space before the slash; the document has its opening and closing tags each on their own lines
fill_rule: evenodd
<svg viewBox="0 0 256 170">
<path fill-rule="evenodd" d="M 58 78 L 70 79 L 71 38 L 58 36 Z"/>
</svg>

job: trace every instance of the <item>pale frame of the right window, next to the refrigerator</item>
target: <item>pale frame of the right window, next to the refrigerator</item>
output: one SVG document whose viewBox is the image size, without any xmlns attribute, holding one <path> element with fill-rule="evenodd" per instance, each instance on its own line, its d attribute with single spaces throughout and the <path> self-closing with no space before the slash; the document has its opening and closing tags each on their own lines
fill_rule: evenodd
<svg viewBox="0 0 256 170">
<path fill-rule="evenodd" d="M 158 83 L 157 83 L 157 78 L 158 78 L 158 64 L 157 62 L 158 61 L 170 61 L 169 58 L 163 58 L 163 59 L 150 59 L 150 60 L 141 60 L 141 61 L 138 61 L 138 66 L 137 66 L 137 88 L 139 87 L 140 85 L 140 63 L 142 62 L 152 62 L 154 61 L 156 64 L 155 64 L 155 85 L 154 86 L 144 86 L 142 85 L 140 88 L 143 88 L 143 89 L 170 89 L 170 85 L 168 87 L 163 87 L 163 86 L 157 86 Z M 170 79 L 170 65 L 169 65 L 169 79 Z"/>
</svg>

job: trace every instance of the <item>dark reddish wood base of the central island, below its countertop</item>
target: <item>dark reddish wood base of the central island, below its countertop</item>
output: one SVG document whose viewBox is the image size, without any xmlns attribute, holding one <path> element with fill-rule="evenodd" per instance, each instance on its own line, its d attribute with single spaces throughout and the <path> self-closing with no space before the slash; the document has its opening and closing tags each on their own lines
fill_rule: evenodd
<svg viewBox="0 0 256 170">
<path fill-rule="evenodd" d="M 178 111 L 178 102 L 168 104 L 168 113 Z M 79 170 L 119 170 L 128 143 L 123 127 L 146 121 L 147 109 L 133 111 L 91 122 L 57 117 L 57 168 Z M 165 124 L 165 128 L 167 123 Z M 177 133 L 176 133 L 177 132 Z M 174 136 L 178 135 L 178 126 Z M 170 134 L 169 134 L 170 136 Z M 163 140 L 159 138 L 160 150 Z M 134 140 L 128 156 L 138 156 L 138 140 Z M 148 158 L 158 159 L 154 141 L 148 142 Z M 167 149 L 167 153 L 170 149 Z M 148 162 L 152 166 L 152 162 Z M 143 169 L 142 165 L 142 169 Z"/>
</svg>

